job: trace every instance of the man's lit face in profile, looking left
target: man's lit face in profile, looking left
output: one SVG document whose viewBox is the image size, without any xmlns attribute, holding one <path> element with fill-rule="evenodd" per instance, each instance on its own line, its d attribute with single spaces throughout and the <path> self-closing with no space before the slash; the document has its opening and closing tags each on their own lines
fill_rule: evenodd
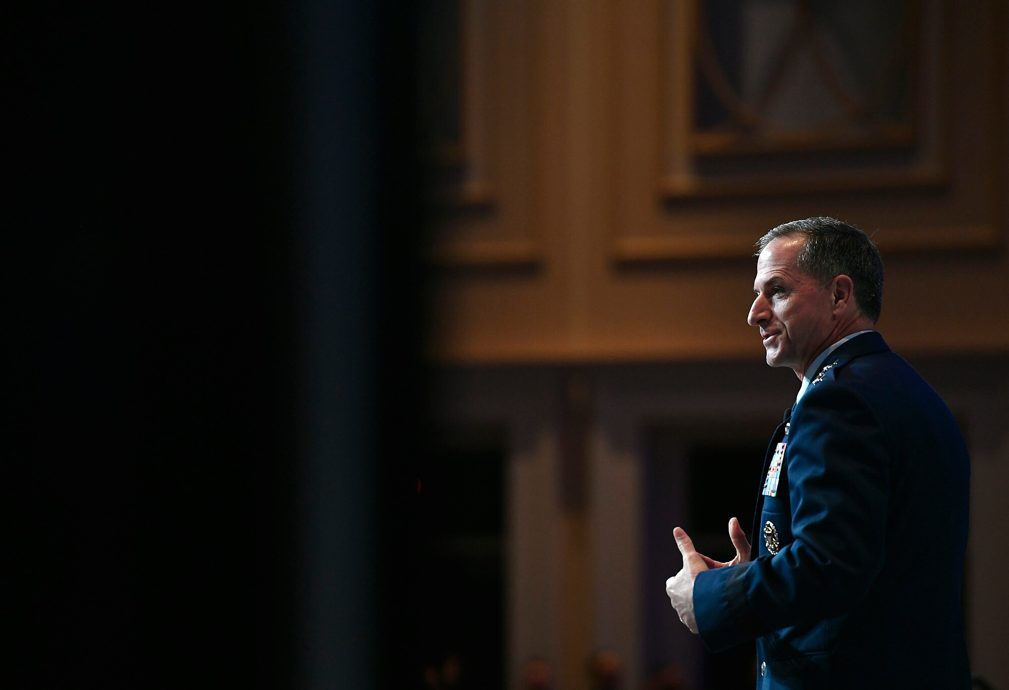
<svg viewBox="0 0 1009 690">
<path fill-rule="evenodd" d="M 805 237 L 773 240 L 757 259 L 747 323 L 760 329 L 770 366 L 787 366 L 800 377 L 823 350 L 831 330 L 829 286 L 796 267 Z"/>
</svg>

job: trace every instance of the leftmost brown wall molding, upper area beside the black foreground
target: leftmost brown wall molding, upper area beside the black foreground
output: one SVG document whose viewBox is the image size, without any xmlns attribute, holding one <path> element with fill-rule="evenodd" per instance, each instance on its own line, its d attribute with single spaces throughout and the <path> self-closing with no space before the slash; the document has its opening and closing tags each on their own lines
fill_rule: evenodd
<svg viewBox="0 0 1009 690">
<path fill-rule="evenodd" d="M 460 120 L 440 151 L 427 202 L 435 225 L 429 260 L 439 267 L 532 267 L 544 250 L 531 233 L 530 136 L 534 7 L 460 0 Z M 506 109 L 503 106 L 508 106 Z M 488 239 L 492 237 L 493 239 Z"/>
</svg>

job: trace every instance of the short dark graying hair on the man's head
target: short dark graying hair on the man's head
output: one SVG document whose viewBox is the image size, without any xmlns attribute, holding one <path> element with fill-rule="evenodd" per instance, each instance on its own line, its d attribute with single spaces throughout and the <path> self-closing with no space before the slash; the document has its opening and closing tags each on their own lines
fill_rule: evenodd
<svg viewBox="0 0 1009 690">
<path fill-rule="evenodd" d="M 757 240 L 757 254 L 782 237 L 802 236 L 795 265 L 827 284 L 840 274 L 855 283 L 855 304 L 875 324 L 883 311 L 883 257 L 876 243 L 854 225 L 825 216 L 783 223 Z"/>
</svg>

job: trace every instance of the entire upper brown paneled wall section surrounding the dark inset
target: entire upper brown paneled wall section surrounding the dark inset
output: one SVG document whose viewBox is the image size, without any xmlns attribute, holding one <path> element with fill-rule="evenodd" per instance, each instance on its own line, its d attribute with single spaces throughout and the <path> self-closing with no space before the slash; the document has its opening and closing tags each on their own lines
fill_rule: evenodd
<svg viewBox="0 0 1009 690">
<path fill-rule="evenodd" d="M 510 145 L 490 147 L 499 158 L 488 158 L 495 204 L 501 205 L 493 213 L 499 216 L 452 217 L 443 223 L 450 243 L 442 249 L 469 251 L 492 237 L 530 240 L 538 253 L 524 264 L 468 261 L 465 270 L 438 272 L 435 359 L 762 358 L 746 325 L 753 242 L 779 223 L 814 215 L 853 222 L 879 242 L 887 267 L 879 328 L 896 348 L 1009 350 L 1009 319 L 1001 302 L 1009 293 L 1009 20 L 1002 3 L 939 5 L 947 31 L 943 52 L 935 56 L 944 84 L 941 184 L 675 202 L 662 184 L 668 171 L 665 147 L 677 145 L 675 137 L 666 136 L 664 112 L 668 99 L 684 87 L 670 87 L 663 71 L 670 51 L 674 56 L 689 51 L 669 43 L 665 26 L 689 5 L 669 0 L 503 4 L 524 17 L 529 79 L 488 85 L 496 96 L 487 126 L 513 137 Z M 517 20 L 507 21 L 504 9 L 493 11 L 502 14 L 487 23 L 488 31 L 516 30 Z M 515 49 L 500 36 L 488 42 L 501 45 L 494 60 L 507 61 Z M 509 157 L 522 148 L 519 129 L 508 127 L 524 113 L 529 159 L 521 162 L 518 155 Z M 491 131 L 487 140 L 501 136 Z M 525 204 L 510 201 L 512 183 L 501 182 L 510 165 Z M 520 170 L 522 185 L 516 182 Z M 514 215 L 506 210 L 509 204 Z M 516 220 L 523 213 L 525 224 Z M 467 263 L 464 257 L 459 262 Z"/>
</svg>

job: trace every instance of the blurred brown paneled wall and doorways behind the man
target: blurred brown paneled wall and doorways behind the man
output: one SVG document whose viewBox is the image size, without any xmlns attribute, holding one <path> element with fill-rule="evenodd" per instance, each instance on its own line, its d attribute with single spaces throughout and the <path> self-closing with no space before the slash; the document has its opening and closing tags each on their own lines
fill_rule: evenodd
<svg viewBox="0 0 1009 690">
<path fill-rule="evenodd" d="M 749 519 L 758 458 L 797 388 L 746 324 L 753 243 L 827 215 L 879 244 L 878 328 L 968 438 L 971 659 L 1009 687 L 1004 3 L 424 12 L 444 450 L 420 472 L 419 514 L 438 518 L 418 544 L 448 590 L 482 592 L 443 592 L 427 612 L 424 629 L 446 636 L 429 663 L 469 656 L 489 682 L 492 640 L 494 687 L 519 687 L 531 659 L 557 687 L 591 687 L 599 650 L 620 656 L 627 688 L 668 667 L 686 687 L 749 685 L 751 649 L 709 655 L 669 608 L 671 532 L 732 555 L 725 523 Z M 496 522 L 469 522 L 473 495 Z"/>
</svg>

